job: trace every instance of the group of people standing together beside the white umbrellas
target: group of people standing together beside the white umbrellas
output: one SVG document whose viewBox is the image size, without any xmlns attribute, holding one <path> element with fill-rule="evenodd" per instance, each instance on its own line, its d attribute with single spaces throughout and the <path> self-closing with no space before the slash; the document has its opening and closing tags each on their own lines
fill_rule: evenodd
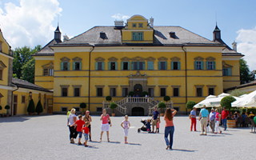
<svg viewBox="0 0 256 160">
<path fill-rule="evenodd" d="M 214 108 L 211 109 L 210 113 L 208 110 L 206 110 L 206 105 L 202 106 L 202 110 L 200 110 L 199 114 L 199 121 L 201 122 L 201 134 L 200 135 L 206 135 L 207 131 L 211 129 L 211 132 L 213 134 L 222 134 L 222 130 L 219 128 L 220 121 L 222 121 L 222 124 L 224 126 L 224 130 L 226 130 L 226 119 L 229 116 L 229 111 L 226 110 L 226 107 L 223 107 L 222 113 L 218 113 L 218 109 L 214 110 Z M 196 108 L 194 107 L 193 110 L 190 111 L 191 115 L 191 126 L 190 131 L 196 130 Z"/>
</svg>

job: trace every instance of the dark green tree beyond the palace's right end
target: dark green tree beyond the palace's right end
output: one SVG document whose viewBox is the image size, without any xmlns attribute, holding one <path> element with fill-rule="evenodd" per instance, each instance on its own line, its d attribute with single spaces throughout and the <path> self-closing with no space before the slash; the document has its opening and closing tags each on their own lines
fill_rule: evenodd
<svg viewBox="0 0 256 160">
<path fill-rule="evenodd" d="M 241 58 L 239 60 L 240 66 L 240 84 L 245 84 L 247 82 L 251 82 L 255 80 L 254 71 L 250 72 L 249 66 L 247 65 L 246 60 Z"/>
</svg>

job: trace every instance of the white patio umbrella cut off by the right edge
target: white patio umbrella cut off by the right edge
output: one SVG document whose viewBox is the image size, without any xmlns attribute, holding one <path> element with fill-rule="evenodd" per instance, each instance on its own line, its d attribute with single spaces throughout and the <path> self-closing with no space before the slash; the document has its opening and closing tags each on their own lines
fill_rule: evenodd
<svg viewBox="0 0 256 160">
<path fill-rule="evenodd" d="M 246 96 L 239 98 L 237 101 L 232 102 L 232 107 L 256 107 L 256 90 L 247 94 Z"/>
</svg>

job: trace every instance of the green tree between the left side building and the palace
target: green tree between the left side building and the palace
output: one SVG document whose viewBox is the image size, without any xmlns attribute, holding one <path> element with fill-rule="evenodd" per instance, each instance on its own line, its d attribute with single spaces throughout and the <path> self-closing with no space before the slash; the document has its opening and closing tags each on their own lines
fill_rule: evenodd
<svg viewBox="0 0 256 160">
<path fill-rule="evenodd" d="M 41 49 L 42 47 L 40 45 L 35 46 L 34 49 L 30 49 L 30 47 L 28 46 L 23 46 L 22 48 L 20 47 L 15 48 L 14 61 L 13 61 L 13 74 L 15 78 L 26 78 L 25 75 L 22 75 L 22 70 L 24 70 L 23 66 L 25 66 L 26 63 L 29 63 L 26 65 L 27 67 L 33 66 L 32 64 L 30 64 L 31 62 L 33 63 L 33 61 L 30 61 L 30 60 L 34 59 L 32 57 L 32 54 L 37 53 Z M 30 74 L 33 74 L 33 77 L 34 77 L 34 71 L 33 72 L 30 71 Z M 27 79 L 24 79 L 24 80 L 27 80 Z M 34 82 L 34 80 L 31 82 Z"/>
</svg>

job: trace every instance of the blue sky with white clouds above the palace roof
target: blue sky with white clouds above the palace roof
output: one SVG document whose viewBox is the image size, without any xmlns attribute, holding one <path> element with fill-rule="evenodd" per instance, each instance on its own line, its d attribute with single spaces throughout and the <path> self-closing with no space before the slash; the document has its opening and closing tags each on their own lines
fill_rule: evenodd
<svg viewBox="0 0 256 160">
<path fill-rule="evenodd" d="M 134 14 L 154 18 L 154 26 L 182 26 L 212 40 L 216 22 L 227 45 L 238 42 L 250 70 L 256 70 L 255 0 L 0 0 L 0 28 L 16 47 L 45 46 L 58 22 L 70 38 L 94 26 L 114 26 Z"/>
</svg>

